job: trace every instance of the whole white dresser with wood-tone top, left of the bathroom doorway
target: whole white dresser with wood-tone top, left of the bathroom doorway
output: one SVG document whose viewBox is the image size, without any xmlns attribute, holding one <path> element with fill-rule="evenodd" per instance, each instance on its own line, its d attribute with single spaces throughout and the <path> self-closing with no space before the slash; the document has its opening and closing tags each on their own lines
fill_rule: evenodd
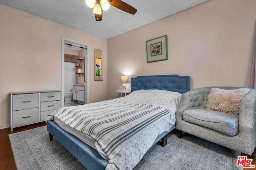
<svg viewBox="0 0 256 170">
<path fill-rule="evenodd" d="M 60 108 L 60 90 L 10 93 L 10 127 L 45 121 Z"/>
</svg>

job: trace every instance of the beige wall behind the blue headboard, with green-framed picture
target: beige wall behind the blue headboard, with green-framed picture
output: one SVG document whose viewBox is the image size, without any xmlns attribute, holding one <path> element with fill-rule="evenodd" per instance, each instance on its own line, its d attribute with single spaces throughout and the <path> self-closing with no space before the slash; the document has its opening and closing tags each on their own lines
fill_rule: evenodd
<svg viewBox="0 0 256 170">
<path fill-rule="evenodd" d="M 107 98 L 119 96 L 121 75 L 189 75 L 191 89 L 245 86 L 255 9 L 256 0 L 210 0 L 108 39 Z M 146 41 L 162 35 L 168 60 L 146 63 Z"/>
</svg>

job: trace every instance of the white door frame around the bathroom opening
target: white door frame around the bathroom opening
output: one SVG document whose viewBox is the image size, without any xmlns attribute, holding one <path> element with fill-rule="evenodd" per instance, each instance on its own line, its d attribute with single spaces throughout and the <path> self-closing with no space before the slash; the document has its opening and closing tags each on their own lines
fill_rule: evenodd
<svg viewBox="0 0 256 170">
<path fill-rule="evenodd" d="M 90 75 L 90 68 L 89 68 L 89 63 L 90 63 L 90 45 L 87 44 L 87 43 L 83 43 L 83 42 L 80 42 L 80 41 L 76 41 L 74 39 L 69 39 L 69 38 L 66 38 L 66 37 L 61 37 L 61 107 L 64 107 L 64 41 L 70 41 L 70 42 L 73 42 L 73 43 L 76 43 L 76 44 L 81 44 L 81 45 L 84 45 L 87 47 L 87 50 L 86 50 L 86 57 L 85 57 L 85 60 L 84 62 L 86 62 L 86 69 L 84 70 L 85 71 L 85 104 L 88 104 L 89 103 L 89 84 L 90 84 L 90 78 L 89 78 L 89 75 Z"/>
</svg>

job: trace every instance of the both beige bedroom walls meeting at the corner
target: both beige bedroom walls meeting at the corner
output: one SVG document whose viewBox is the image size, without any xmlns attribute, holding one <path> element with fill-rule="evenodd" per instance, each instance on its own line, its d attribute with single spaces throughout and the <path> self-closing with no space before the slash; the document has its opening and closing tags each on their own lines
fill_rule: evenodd
<svg viewBox="0 0 256 170">
<path fill-rule="evenodd" d="M 211 0 L 105 40 L 0 4 L 0 128 L 9 124 L 9 92 L 61 90 L 61 37 L 90 44 L 90 102 L 118 97 L 121 75 L 190 75 L 191 89 L 245 86 L 255 9 L 255 0 Z M 162 35 L 168 60 L 146 63 L 146 41 Z M 94 49 L 103 51 L 104 81 L 94 81 Z"/>
</svg>

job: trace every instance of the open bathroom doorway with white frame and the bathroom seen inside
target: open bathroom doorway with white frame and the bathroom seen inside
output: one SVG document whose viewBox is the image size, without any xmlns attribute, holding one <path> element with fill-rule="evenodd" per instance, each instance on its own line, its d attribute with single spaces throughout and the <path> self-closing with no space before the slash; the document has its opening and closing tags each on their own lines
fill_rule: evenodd
<svg viewBox="0 0 256 170">
<path fill-rule="evenodd" d="M 89 44 L 62 37 L 61 107 L 89 102 L 89 54 Z"/>
</svg>

